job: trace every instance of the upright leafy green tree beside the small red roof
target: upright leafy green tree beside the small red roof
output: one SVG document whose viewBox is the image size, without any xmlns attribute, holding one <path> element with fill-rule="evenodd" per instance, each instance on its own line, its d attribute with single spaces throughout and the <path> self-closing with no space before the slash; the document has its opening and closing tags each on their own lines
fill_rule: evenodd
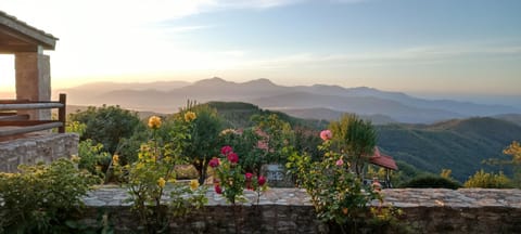
<svg viewBox="0 0 521 234">
<path fill-rule="evenodd" d="M 339 121 L 332 121 L 329 129 L 333 133 L 332 147 L 345 154 L 352 170 L 361 178 L 377 144 L 377 132 L 371 122 L 356 115 L 343 115 Z"/>
</svg>

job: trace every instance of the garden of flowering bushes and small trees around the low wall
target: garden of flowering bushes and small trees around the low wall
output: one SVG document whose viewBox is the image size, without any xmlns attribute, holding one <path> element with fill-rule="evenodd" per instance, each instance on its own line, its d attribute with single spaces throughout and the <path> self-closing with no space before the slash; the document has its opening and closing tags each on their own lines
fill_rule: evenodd
<svg viewBox="0 0 521 234">
<path fill-rule="evenodd" d="M 369 121 L 345 115 L 321 131 L 296 131 L 275 114 L 250 122 L 232 126 L 191 102 L 145 120 L 117 106 L 73 114 L 67 131 L 80 135 L 78 155 L 0 173 L 0 233 L 113 233 L 117 223 L 103 216 L 90 226 L 79 219 L 81 198 L 107 184 L 128 194 L 135 233 L 170 233 L 174 219 L 207 208 L 208 194 L 226 200 L 241 233 L 252 217 L 244 209 L 258 208 L 270 186 L 305 188 L 323 232 L 407 232 L 396 224 L 402 210 L 378 205 L 379 184 L 363 183 L 381 172 L 367 164 L 377 139 Z M 284 179 L 268 165 L 279 165 Z"/>
</svg>

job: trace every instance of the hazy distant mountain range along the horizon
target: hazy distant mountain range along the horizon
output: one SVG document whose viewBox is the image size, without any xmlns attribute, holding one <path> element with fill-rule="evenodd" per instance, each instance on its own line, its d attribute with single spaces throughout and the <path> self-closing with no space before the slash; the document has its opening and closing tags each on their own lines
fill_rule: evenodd
<svg viewBox="0 0 521 234">
<path fill-rule="evenodd" d="M 335 119 L 342 113 L 355 113 L 377 123 L 431 123 L 453 118 L 520 114 L 507 105 L 485 105 L 450 100 L 425 100 L 402 92 L 381 91 L 367 87 L 278 86 L 268 79 L 247 82 L 211 78 L 193 83 L 163 81 L 149 83 L 97 82 L 71 89 L 74 105 L 119 105 L 137 110 L 173 113 L 187 100 L 247 102 L 266 109 L 276 109 L 302 118 Z"/>
</svg>

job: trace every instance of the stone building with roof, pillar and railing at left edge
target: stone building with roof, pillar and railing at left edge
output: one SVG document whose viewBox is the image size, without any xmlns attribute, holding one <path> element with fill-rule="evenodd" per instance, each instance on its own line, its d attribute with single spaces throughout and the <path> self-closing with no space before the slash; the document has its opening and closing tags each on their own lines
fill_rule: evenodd
<svg viewBox="0 0 521 234">
<path fill-rule="evenodd" d="M 0 54 L 14 54 L 16 90 L 15 100 L 0 100 L 0 171 L 77 154 L 77 134 L 50 131 L 64 132 L 65 126 L 65 95 L 51 101 L 50 57 L 43 54 L 56 41 L 0 11 Z M 59 120 L 51 120 L 52 108 L 60 109 Z"/>
</svg>

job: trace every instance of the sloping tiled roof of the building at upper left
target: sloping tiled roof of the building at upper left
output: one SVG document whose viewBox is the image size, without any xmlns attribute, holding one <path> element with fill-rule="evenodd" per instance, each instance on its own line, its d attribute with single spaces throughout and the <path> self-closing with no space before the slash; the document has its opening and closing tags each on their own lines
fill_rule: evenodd
<svg viewBox="0 0 521 234">
<path fill-rule="evenodd" d="M 0 53 L 54 50 L 58 38 L 0 11 Z"/>
</svg>

